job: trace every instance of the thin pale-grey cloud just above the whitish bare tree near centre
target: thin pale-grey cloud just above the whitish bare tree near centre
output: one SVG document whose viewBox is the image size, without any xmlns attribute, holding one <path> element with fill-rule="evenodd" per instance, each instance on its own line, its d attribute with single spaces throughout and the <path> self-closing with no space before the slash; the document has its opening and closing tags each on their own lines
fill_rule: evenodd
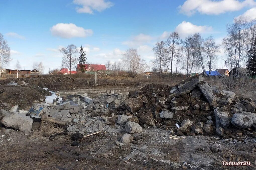
<svg viewBox="0 0 256 170">
<path fill-rule="evenodd" d="M 153 38 L 150 35 L 139 34 L 131 38 L 131 41 L 124 41 L 123 45 L 128 45 L 130 47 L 139 46 L 144 43 L 149 43 Z"/>
</svg>

